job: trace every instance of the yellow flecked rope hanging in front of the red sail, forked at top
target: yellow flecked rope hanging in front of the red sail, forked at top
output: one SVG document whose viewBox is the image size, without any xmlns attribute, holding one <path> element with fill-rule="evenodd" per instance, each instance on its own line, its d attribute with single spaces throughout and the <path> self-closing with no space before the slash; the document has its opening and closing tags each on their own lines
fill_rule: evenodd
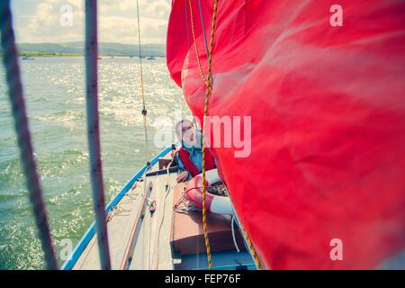
<svg viewBox="0 0 405 288">
<path fill-rule="evenodd" d="M 200 61 L 200 55 L 198 53 L 198 47 L 197 47 L 197 40 L 195 38 L 195 32 L 194 32 L 194 24 L 193 24 L 193 6 L 191 0 L 188 0 L 188 4 L 190 6 L 190 22 L 191 22 L 191 29 L 192 29 L 192 34 L 193 34 L 193 41 L 194 41 L 194 49 L 195 49 L 195 57 L 197 58 L 197 64 L 198 64 L 198 69 L 200 71 L 200 74 L 202 76 L 202 80 L 204 81 L 207 91 L 205 93 L 205 101 L 204 101 L 204 116 L 203 116 L 203 124 L 202 124 L 202 135 L 205 136 L 205 118 L 208 115 L 208 103 L 209 103 L 209 96 L 212 93 L 212 86 L 211 86 L 211 64 L 212 64 L 212 48 L 213 48 L 213 38 L 214 38 L 214 32 L 215 32 L 215 23 L 216 23 L 216 18 L 217 18 L 217 12 L 218 12 L 218 1 L 215 0 L 214 6 L 213 6 L 213 13 L 212 13 L 212 26 L 211 26 L 211 38 L 210 38 L 210 50 L 208 52 L 208 76 L 205 77 L 204 73 L 202 71 L 202 65 Z M 203 27 L 202 27 L 203 29 Z M 206 178 L 205 178 L 205 140 L 202 140 L 202 228 L 204 230 L 204 238 L 205 238 L 205 247 L 207 248 L 207 258 L 208 258 L 208 268 L 211 270 L 212 269 L 212 262 L 211 262 L 211 247 L 210 247 L 210 240 L 208 238 L 208 231 L 207 231 L 207 211 L 206 211 Z M 256 266 L 259 270 L 263 269 L 263 266 L 260 262 L 260 259 L 257 257 L 257 252 L 255 247 L 253 247 L 252 242 L 250 241 L 250 238 L 247 235 L 247 232 L 245 229 L 242 228 L 242 231 L 245 235 L 246 241 L 247 241 L 247 246 L 249 247 L 252 257 L 255 260 Z"/>
</svg>

